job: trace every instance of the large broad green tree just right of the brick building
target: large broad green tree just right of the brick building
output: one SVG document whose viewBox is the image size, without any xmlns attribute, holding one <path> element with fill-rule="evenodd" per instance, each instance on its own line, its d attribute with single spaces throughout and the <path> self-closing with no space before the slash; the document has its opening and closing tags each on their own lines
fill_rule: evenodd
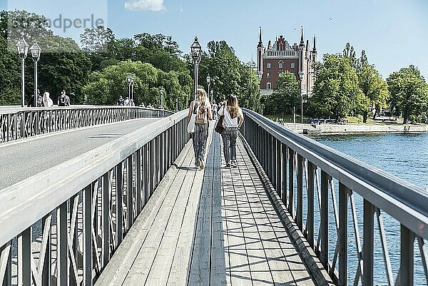
<svg viewBox="0 0 428 286">
<path fill-rule="evenodd" d="M 317 65 L 310 109 L 315 116 L 328 116 L 337 121 L 367 110 L 369 99 L 358 86 L 358 77 L 348 58 L 325 54 Z"/>
</svg>

